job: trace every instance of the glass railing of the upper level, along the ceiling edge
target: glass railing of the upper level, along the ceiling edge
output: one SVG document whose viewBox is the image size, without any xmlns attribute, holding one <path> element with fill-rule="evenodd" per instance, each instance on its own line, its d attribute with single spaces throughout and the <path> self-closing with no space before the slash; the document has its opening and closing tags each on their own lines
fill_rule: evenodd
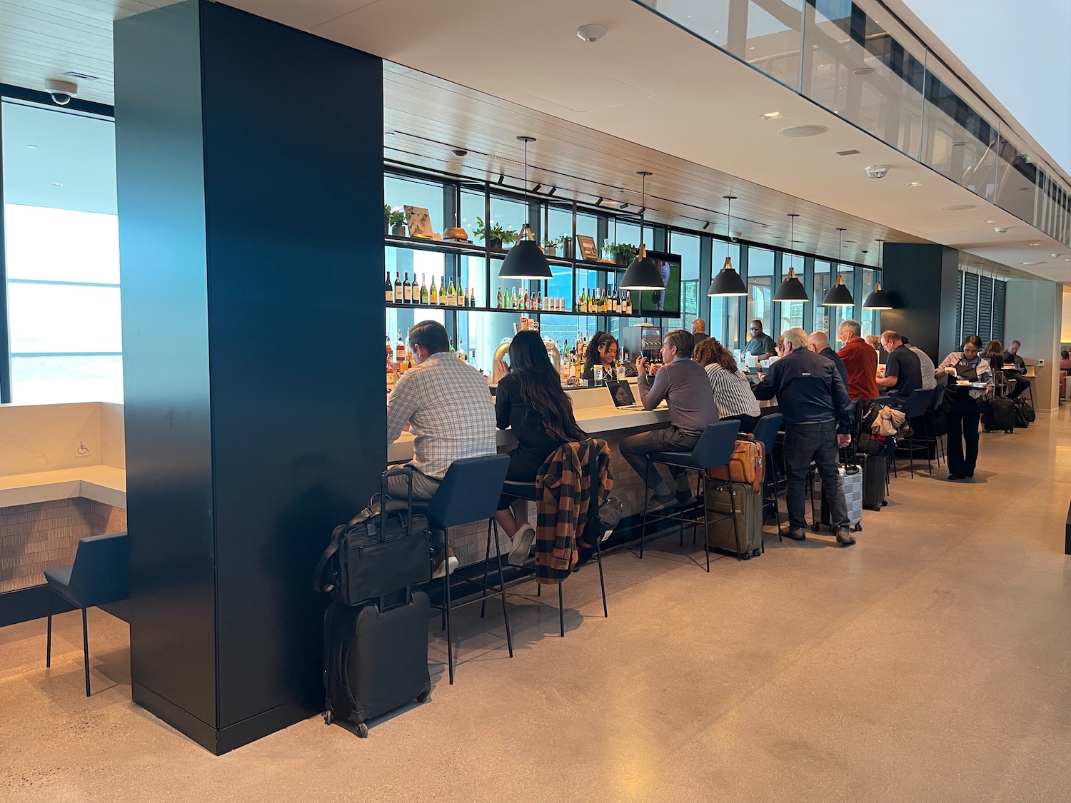
<svg viewBox="0 0 1071 803">
<path fill-rule="evenodd" d="M 868 0 L 634 2 L 1071 245 L 1071 186 Z"/>
</svg>

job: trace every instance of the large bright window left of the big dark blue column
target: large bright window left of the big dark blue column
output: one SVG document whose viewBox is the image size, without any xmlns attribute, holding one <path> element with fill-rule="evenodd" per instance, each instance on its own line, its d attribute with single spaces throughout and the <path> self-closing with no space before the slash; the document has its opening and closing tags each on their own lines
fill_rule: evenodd
<svg viewBox="0 0 1071 803">
<path fill-rule="evenodd" d="M 110 120 L 4 101 L 12 402 L 122 402 Z"/>
</svg>

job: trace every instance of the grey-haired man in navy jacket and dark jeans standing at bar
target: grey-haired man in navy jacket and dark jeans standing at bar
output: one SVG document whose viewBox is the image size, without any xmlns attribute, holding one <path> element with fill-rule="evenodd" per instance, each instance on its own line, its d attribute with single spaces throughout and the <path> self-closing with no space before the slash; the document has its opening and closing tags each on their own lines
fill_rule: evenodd
<svg viewBox="0 0 1071 803">
<path fill-rule="evenodd" d="M 808 350 L 806 332 L 789 329 L 783 338 L 781 359 L 754 388 L 756 398 L 776 396 L 779 412 L 784 415 L 788 527 L 782 534 L 794 541 L 806 537 L 803 485 L 813 459 L 832 507 L 830 522 L 836 542 L 851 546 L 856 540 L 848 531 L 848 511 L 836 470 L 838 448 L 851 442 L 854 410 L 848 389 L 832 361 Z"/>
</svg>

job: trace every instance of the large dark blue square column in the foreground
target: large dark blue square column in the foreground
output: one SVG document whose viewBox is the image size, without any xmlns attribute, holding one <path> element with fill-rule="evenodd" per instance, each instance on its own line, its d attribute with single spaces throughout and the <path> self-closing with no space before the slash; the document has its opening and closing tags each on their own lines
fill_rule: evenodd
<svg viewBox="0 0 1071 803">
<path fill-rule="evenodd" d="M 206 0 L 115 34 L 133 695 L 224 753 L 320 710 L 386 459 L 382 64 Z"/>
</svg>

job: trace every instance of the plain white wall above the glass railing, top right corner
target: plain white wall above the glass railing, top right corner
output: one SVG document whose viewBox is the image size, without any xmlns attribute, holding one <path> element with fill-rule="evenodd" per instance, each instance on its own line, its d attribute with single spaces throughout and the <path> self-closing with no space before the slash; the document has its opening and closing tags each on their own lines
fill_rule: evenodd
<svg viewBox="0 0 1071 803">
<path fill-rule="evenodd" d="M 903 2 L 1071 171 L 1071 2 Z"/>
</svg>

